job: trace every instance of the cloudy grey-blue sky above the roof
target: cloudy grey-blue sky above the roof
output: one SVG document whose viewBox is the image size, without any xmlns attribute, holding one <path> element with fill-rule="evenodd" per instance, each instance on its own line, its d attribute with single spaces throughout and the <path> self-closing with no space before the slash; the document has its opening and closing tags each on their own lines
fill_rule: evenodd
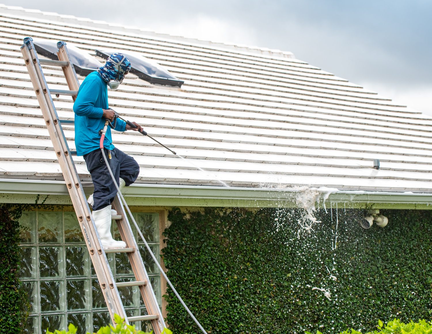
<svg viewBox="0 0 432 334">
<path fill-rule="evenodd" d="M 0 0 L 214 42 L 291 51 L 432 115 L 431 0 Z"/>
</svg>

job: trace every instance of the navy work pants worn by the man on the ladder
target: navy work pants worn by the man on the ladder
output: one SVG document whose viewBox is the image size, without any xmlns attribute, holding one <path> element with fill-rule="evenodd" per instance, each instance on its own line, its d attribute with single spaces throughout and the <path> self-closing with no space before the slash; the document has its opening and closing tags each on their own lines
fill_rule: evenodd
<svg viewBox="0 0 432 334">
<path fill-rule="evenodd" d="M 114 148 L 114 150 L 111 150 L 110 159 L 108 150 L 104 148 L 104 151 L 117 184 L 119 184 L 120 177 L 125 181 L 126 186 L 130 186 L 137 180 L 140 166 L 133 157 Z M 84 154 L 84 160 L 86 161 L 90 175 L 92 175 L 93 185 L 95 186 L 95 191 L 93 192 L 93 199 L 95 201 L 93 210 L 103 209 L 111 205 L 111 202 L 117 195 L 117 188 L 100 149 Z"/>
</svg>

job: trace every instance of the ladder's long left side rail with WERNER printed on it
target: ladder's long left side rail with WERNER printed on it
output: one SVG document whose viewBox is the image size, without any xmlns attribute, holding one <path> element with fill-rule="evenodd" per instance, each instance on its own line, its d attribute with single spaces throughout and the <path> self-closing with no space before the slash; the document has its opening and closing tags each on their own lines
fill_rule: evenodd
<svg viewBox="0 0 432 334">
<path fill-rule="evenodd" d="M 74 182 L 75 183 L 74 185 L 71 182 L 74 179 L 73 173 L 69 168 L 72 157 L 70 154 L 66 154 L 69 153 L 67 144 L 66 144 L 66 152 L 63 149 L 63 147 L 61 147 L 60 138 L 63 138 L 63 140 L 65 139 L 61 127 L 60 127 L 61 136 L 59 136 L 57 132 L 57 128 L 53 126 L 55 125 L 55 122 L 54 119 L 52 119 L 52 110 L 50 110 L 51 109 L 49 107 L 50 105 L 46 100 L 47 95 L 50 97 L 50 102 L 52 103 L 51 107 L 54 107 L 54 104 L 51 99 L 51 96 L 49 95 L 49 90 L 46 87 L 46 81 L 44 80 L 40 64 L 38 63 L 38 58 L 34 54 L 34 52 L 33 53 L 31 52 L 31 50 L 34 50 L 34 46 L 32 45 L 31 40 L 25 42 L 25 44 L 22 46 L 21 49 L 22 49 L 22 54 L 25 60 L 27 70 L 29 71 L 30 77 L 32 79 L 33 87 L 35 89 L 39 105 L 41 106 L 41 111 L 43 113 L 45 122 L 47 123 L 47 128 L 50 133 L 51 141 L 53 142 L 53 145 L 55 147 L 54 149 L 56 150 L 58 161 L 60 163 L 60 167 L 62 169 L 63 175 L 65 177 L 65 181 L 67 183 L 67 189 L 69 191 L 71 200 L 73 202 L 73 206 L 77 214 L 77 218 L 80 222 L 80 228 L 83 231 L 84 237 L 86 238 L 90 257 L 95 267 L 98 280 L 101 284 L 105 301 L 107 302 L 108 309 L 111 313 L 111 318 L 114 318 L 114 313 L 117 313 L 121 317 L 126 318 L 126 312 L 124 311 L 124 307 L 121 304 L 121 299 L 118 294 L 118 289 L 115 286 L 114 278 L 109 268 L 108 260 L 106 258 L 105 252 L 103 251 L 103 248 L 101 247 L 98 234 L 95 233 L 96 228 L 94 225 L 94 221 L 92 219 L 92 215 L 90 214 L 90 210 L 87 205 L 87 202 L 85 201 L 83 187 L 81 186 L 79 179 L 78 182 Z M 41 83 L 40 80 L 41 78 L 43 79 L 44 84 Z M 55 116 L 57 116 L 55 109 L 54 109 L 54 114 Z M 57 120 L 57 125 L 60 126 L 58 124 L 59 123 L 58 118 L 56 120 Z M 73 161 L 72 161 L 72 166 L 76 176 L 77 173 Z M 80 189 L 81 191 L 79 192 L 78 189 Z M 83 202 L 85 202 L 84 206 L 83 206 Z M 95 246 L 97 252 L 95 252 L 94 249 Z M 109 275 L 107 273 L 109 273 Z"/>
</svg>

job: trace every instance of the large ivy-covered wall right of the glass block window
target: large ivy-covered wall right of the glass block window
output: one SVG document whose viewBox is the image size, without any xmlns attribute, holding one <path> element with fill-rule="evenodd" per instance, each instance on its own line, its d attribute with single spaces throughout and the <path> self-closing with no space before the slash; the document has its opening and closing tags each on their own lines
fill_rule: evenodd
<svg viewBox="0 0 432 334">
<path fill-rule="evenodd" d="M 381 210 L 387 227 L 368 230 L 364 213 L 321 209 L 314 231 L 298 234 L 298 209 L 173 209 L 168 276 L 209 333 L 366 332 L 378 319 L 432 319 L 432 212 Z M 200 333 L 169 289 L 166 298 L 171 329 Z"/>
</svg>

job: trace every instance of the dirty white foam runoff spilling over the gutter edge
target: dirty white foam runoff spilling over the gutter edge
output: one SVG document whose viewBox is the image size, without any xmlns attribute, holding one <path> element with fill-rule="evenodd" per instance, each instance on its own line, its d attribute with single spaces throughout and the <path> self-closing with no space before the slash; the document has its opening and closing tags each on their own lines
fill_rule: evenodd
<svg viewBox="0 0 432 334">
<path fill-rule="evenodd" d="M 317 218 L 315 218 L 314 212 L 316 211 L 315 203 L 320 202 L 321 195 L 324 203 L 324 209 L 325 208 L 325 201 L 328 199 L 330 194 L 334 194 L 338 191 L 336 188 L 327 188 L 327 187 L 320 187 L 320 188 L 313 188 L 313 187 L 301 187 L 301 188 L 295 188 L 293 190 L 297 190 L 297 197 L 295 199 L 295 204 L 299 206 L 299 208 L 303 209 L 304 212 L 301 215 L 301 217 L 297 220 L 299 222 L 300 228 L 297 232 L 298 238 L 300 238 L 300 232 L 302 230 L 307 231 L 308 233 L 311 233 L 311 231 L 314 231 L 312 226 L 315 223 L 321 223 L 321 221 L 318 221 Z"/>
</svg>

